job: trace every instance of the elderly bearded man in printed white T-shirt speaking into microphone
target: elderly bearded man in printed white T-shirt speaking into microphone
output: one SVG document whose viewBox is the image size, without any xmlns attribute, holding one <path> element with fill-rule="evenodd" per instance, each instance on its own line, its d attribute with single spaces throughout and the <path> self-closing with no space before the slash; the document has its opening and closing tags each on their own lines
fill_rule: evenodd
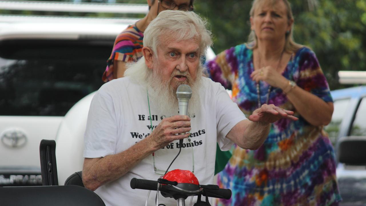
<svg viewBox="0 0 366 206">
<path fill-rule="evenodd" d="M 147 192 L 132 190 L 130 180 L 157 180 L 178 153 L 180 139 L 182 151 L 170 170 L 194 170 L 200 184 L 212 184 L 216 142 L 221 150 L 233 143 L 256 149 L 270 123 L 297 119 L 292 111 L 266 104 L 247 119 L 219 83 L 203 77 L 199 57 L 211 44 L 197 14 L 163 11 L 145 30 L 143 58 L 94 96 L 82 174 L 85 187 L 106 205 L 144 205 Z M 175 92 L 181 84 L 192 88 L 188 115 L 178 113 Z M 176 205 L 171 198 L 159 203 Z"/>
</svg>

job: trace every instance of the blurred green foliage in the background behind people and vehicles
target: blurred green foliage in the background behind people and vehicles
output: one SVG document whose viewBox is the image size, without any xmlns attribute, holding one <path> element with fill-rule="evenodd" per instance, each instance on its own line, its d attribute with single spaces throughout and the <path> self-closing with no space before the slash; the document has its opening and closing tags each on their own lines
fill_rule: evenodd
<svg viewBox="0 0 366 206">
<path fill-rule="evenodd" d="M 50 1 L 50 0 L 48 0 Z M 60 1 L 60 0 L 56 0 Z M 74 3 L 144 3 L 146 0 L 73 0 Z M 205 17 L 213 33 L 213 50 L 246 42 L 252 0 L 195 0 L 195 11 Z M 346 86 L 338 82 L 339 70 L 366 69 L 366 0 L 290 0 L 295 16 L 294 38 L 312 48 L 326 74 L 330 89 Z M 142 18 L 136 14 L 6 11 L 1 14 L 71 15 Z M 121 28 L 123 30 L 124 28 Z"/>
</svg>

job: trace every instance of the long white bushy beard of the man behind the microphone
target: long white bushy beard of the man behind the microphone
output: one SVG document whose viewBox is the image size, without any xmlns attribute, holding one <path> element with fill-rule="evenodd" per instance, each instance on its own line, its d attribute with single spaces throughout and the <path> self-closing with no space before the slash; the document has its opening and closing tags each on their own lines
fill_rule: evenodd
<svg viewBox="0 0 366 206">
<path fill-rule="evenodd" d="M 187 80 L 185 82 L 177 82 L 176 85 L 172 85 L 171 81 L 173 81 L 173 78 L 176 75 L 186 76 Z M 175 69 L 170 79 L 164 81 L 163 76 L 161 75 L 161 69 L 158 69 L 158 71 L 156 71 L 156 69 L 154 71 L 150 70 L 146 79 L 146 85 L 149 88 L 150 106 L 153 104 L 154 108 L 166 117 L 178 115 L 179 107 L 176 90 L 180 84 L 187 84 L 192 89 L 192 97 L 188 103 L 188 113 L 198 113 L 200 106 L 199 89 L 202 86 L 202 76 L 203 67 L 201 64 L 199 64 L 197 69 L 196 80 L 192 79 L 188 71 L 180 72 Z"/>
</svg>

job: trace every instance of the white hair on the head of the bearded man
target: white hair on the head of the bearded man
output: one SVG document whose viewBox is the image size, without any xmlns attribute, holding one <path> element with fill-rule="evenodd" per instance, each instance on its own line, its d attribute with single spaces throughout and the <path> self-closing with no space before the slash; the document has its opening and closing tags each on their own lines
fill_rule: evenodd
<svg viewBox="0 0 366 206">
<path fill-rule="evenodd" d="M 203 56 L 208 47 L 212 45 L 212 34 L 206 29 L 206 25 L 207 22 L 193 11 L 162 11 L 145 29 L 143 46 L 150 47 L 154 52 L 154 57 L 157 57 L 157 45 L 160 44 L 160 37 L 164 35 L 174 35 L 175 41 L 198 38 L 199 56 Z M 127 63 L 126 68 L 124 76 L 131 76 L 138 82 L 145 82 L 147 77 L 152 74 L 145 64 L 144 57 L 137 62 Z M 199 69 L 202 69 L 201 61 Z"/>
</svg>

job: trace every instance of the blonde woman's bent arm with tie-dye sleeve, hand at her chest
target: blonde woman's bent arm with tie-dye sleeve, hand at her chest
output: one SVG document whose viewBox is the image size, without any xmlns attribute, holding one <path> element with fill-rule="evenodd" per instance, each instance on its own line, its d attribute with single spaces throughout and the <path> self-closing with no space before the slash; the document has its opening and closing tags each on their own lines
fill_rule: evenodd
<svg viewBox="0 0 366 206">
<path fill-rule="evenodd" d="M 333 103 L 326 102 L 319 97 L 328 97 L 328 84 L 315 54 L 304 52 L 303 56 L 303 59 L 299 60 L 302 63 L 299 65 L 298 71 L 297 82 L 299 85 L 295 85 L 295 87 L 291 88 L 289 80 L 271 66 L 253 71 L 251 77 L 254 81 L 266 81 L 272 87 L 281 88 L 286 92 L 285 95 L 294 105 L 296 111 L 311 125 L 328 125 L 333 114 Z M 319 96 L 314 95 L 314 93 L 318 93 Z M 331 98 L 329 100 L 331 101 Z"/>
</svg>

